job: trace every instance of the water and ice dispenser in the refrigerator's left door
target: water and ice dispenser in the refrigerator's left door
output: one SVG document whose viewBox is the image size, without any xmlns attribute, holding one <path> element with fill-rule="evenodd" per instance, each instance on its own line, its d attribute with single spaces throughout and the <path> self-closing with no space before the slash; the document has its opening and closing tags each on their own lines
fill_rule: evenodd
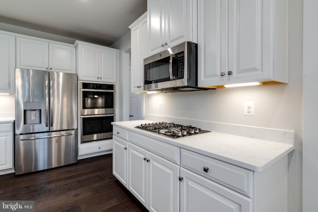
<svg viewBox="0 0 318 212">
<path fill-rule="evenodd" d="M 41 124 L 41 102 L 23 102 L 24 125 Z"/>
</svg>

